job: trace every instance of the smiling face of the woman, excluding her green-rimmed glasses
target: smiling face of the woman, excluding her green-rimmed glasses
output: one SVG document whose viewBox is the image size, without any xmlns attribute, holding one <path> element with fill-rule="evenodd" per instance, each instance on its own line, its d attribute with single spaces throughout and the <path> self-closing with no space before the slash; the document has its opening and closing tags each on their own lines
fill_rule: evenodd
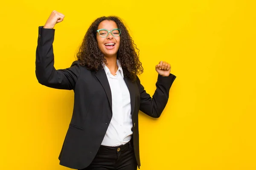
<svg viewBox="0 0 256 170">
<path fill-rule="evenodd" d="M 107 29 L 111 31 L 117 28 L 117 25 L 112 20 L 104 20 L 99 23 L 98 29 Z M 120 36 L 114 37 L 111 33 L 107 37 L 101 37 L 97 32 L 97 44 L 104 57 L 117 57 L 117 51 L 120 45 Z"/>
</svg>

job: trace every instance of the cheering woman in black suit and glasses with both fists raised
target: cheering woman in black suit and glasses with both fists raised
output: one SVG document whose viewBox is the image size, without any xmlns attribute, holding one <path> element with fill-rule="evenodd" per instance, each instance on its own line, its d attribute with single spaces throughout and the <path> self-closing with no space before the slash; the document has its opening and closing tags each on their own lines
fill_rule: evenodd
<svg viewBox="0 0 256 170">
<path fill-rule="evenodd" d="M 176 78 L 171 66 L 162 61 L 155 66 L 157 89 L 151 98 L 137 77 L 143 68 L 124 24 L 118 17 L 100 17 L 87 30 L 78 60 L 70 68 L 55 70 L 53 28 L 63 19 L 63 14 L 52 11 L 39 27 L 36 51 L 38 82 L 75 93 L 60 164 L 83 170 L 136 170 L 138 112 L 161 115 Z"/>
</svg>

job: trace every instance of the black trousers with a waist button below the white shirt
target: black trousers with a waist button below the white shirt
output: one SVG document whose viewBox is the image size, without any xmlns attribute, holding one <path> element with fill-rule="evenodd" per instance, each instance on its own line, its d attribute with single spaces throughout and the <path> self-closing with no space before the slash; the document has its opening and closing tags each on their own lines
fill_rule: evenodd
<svg viewBox="0 0 256 170">
<path fill-rule="evenodd" d="M 132 139 L 121 146 L 100 146 L 92 163 L 82 170 L 137 170 Z"/>
</svg>

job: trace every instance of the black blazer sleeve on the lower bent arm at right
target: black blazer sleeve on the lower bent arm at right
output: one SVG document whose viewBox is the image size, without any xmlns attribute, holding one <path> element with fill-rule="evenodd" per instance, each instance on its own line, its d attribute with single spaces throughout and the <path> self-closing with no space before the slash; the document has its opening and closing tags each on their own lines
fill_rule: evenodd
<svg viewBox="0 0 256 170">
<path fill-rule="evenodd" d="M 169 77 L 162 77 L 158 74 L 157 89 L 151 98 L 137 77 L 137 84 L 140 90 L 140 111 L 154 118 L 160 117 L 168 102 L 169 91 L 175 79 L 176 76 L 173 74 L 170 74 Z"/>
</svg>

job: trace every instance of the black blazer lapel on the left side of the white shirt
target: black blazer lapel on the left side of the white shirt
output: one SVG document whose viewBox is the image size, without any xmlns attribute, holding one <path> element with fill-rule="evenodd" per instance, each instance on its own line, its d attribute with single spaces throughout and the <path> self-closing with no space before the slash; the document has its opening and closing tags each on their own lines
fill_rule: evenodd
<svg viewBox="0 0 256 170">
<path fill-rule="evenodd" d="M 111 89 L 108 83 L 108 77 L 105 73 L 105 70 L 102 68 L 99 71 L 96 72 L 95 76 L 99 80 L 99 82 L 102 84 L 107 96 L 108 96 L 108 102 L 112 110 L 112 96 L 111 96 Z"/>
</svg>

